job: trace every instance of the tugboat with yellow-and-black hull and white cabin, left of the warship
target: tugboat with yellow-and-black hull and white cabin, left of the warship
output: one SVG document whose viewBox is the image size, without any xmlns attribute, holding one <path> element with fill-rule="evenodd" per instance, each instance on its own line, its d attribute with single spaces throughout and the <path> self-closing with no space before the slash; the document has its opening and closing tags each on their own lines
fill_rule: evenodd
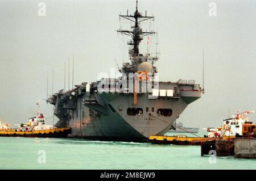
<svg viewBox="0 0 256 181">
<path fill-rule="evenodd" d="M 39 107 L 39 102 L 37 102 Z M 0 122 L 0 136 L 18 136 L 18 137 L 49 137 L 65 138 L 71 131 L 71 128 L 56 128 L 53 125 L 46 125 L 44 115 L 36 111 L 36 116 L 28 119 L 28 123 L 19 124 L 18 128 L 9 129 L 8 124 Z"/>
</svg>

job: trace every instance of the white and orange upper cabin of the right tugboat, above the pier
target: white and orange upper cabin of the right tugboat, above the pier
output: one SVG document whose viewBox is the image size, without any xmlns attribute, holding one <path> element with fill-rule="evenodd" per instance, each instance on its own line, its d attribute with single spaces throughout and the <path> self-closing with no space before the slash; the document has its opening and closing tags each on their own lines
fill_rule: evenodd
<svg viewBox="0 0 256 181">
<path fill-rule="evenodd" d="M 250 113 L 254 111 L 237 112 L 233 118 L 223 120 L 222 127 L 207 128 L 207 137 L 256 137 L 256 124 L 249 121 Z"/>
</svg>

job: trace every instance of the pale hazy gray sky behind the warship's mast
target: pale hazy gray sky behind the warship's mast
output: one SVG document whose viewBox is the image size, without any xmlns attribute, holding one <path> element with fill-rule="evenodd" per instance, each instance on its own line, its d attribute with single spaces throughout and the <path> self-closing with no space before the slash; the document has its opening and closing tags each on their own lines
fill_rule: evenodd
<svg viewBox="0 0 256 181">
<path fill-rule="evenodd" d="M 39 2 L 46 16 L 39 16 Z M 217 5 L 209 16 L 209 3 Z M 64 87 L 64 61 L 75 55 L 75 84 L 96 81 L 128 59 L 127 37 L 118 35 L 119 13 L 135 10 L 131 1 L 0 1 L 0 118 L 18 124 L 46 104 L 46 80 L 54 92 Z M 139 11 L 154 14 L 160 59 L 155 64 L 162 81 L 195 79 L 202 83 L 205 53 L 205 94 L 190 104 L 178 120 L 184 126 L 217 127 L 237 110 L 255 110 L 256 1 L 140 0 Z M 122 28 L 130 23 L 122 21 Z M 143 27 L 149 27 L 145 23 Z M 146 39 L 146 38 L 145 38 Z M 152 41 L 151 41 L 152 40 Z M 150 39 L 150 51 L 155 50 Z M 146 52 L 146 40 L 141 44 Z M 68 64 L 68 63 L 67 63 Z M 68 83 L 66 83 L 68 85 Z M 256 121 L 255 113 L 251 120 Z M 48 124 L 52 120 L 47 120 Z"/>
</svg>

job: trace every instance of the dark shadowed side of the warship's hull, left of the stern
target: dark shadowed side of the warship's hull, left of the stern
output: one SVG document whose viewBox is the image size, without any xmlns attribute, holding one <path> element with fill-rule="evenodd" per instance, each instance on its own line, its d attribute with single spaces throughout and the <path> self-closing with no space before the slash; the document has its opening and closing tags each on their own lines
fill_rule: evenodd
<svg viewBox="0 0 256 181">
<path fill-rule="evenodd" d="M 69 127 L 72 128 L 70 137 L 79 138 L 143 138 L 116 112 L 110 112 L 109 115 L 90 115 L 90 108 L 77 102 L 80 108 L 75 110 L 74 118 L 68 121 Z M 78 113 L 76 113 L 78 112 Z"/>
</svg>

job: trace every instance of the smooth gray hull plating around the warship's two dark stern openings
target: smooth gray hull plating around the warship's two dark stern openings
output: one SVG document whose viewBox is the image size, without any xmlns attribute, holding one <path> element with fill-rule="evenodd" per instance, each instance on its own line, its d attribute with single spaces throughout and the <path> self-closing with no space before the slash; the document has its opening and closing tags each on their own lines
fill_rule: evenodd
<svg viewBox="0 0 256 181">
<path fill-rule="evenodd" d="M 110 104 L 114 108 L 114 111 L 108 108 L 107 115 L 97 112 L 92 116 L 90 108 L 82 105 L 81 99 L 78 99 L 77 109 L 69 112 L 71 137 L 143 139 L 150 135 L 163 135 L 187 107 L 183 99 L 148 99 L 147 94 L 138 95 L 137 106 L 133 105 L 132 94 L 101 94 L 100 96 L 106 105 Z M 122 106 L 122 110 L 119 110 L 119 106 Z M 129 116 L 126 112 L 128 107 L 142 108 L 143 114 Z M 146 112 L 147 107 L 148 112 Z M 154 108 L 153 112 L 152 108 Z M 172 116 L 157 115 L 158 108 L 172 109 Z"/>
</svg>

